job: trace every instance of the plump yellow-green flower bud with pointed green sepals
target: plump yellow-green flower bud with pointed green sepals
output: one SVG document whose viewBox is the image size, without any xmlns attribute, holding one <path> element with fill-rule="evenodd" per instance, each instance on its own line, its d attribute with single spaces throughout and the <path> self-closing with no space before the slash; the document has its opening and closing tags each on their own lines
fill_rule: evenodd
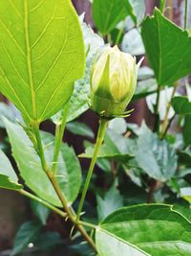
<svg viewBox="0 0 191 256">
<path fill-rule="evenodd" d="M 91 104 L 102 117 L 123 114 L 137 86 L 136 58 L 108 46 L 93 66 Z"/>
</svg>

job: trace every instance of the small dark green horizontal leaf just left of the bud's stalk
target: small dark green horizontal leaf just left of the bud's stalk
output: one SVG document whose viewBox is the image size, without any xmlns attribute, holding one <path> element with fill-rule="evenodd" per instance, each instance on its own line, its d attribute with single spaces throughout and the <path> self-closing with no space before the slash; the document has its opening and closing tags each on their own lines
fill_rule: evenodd
<svg viewBox="0 0 191 256">
<path fill-rule="evenodd" d="M 68 123 L 66 128 L 76 135 L 81 135 L 92 139 L 95 137 L 93 130 L 86 124 L 80 122 Z"/>
</svg>

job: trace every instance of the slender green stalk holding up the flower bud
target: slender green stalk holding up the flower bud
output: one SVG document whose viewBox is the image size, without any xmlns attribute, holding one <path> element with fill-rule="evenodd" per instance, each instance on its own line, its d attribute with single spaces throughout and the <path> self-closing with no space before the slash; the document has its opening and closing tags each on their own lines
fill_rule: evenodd
<svg viewBox="0 0 191 256">
<path fill-rule="evenodd" d="M 104 135 L 105 135 L 105 130 L 107 128 L 107 124 L 108 124 L 108 120 L 100 119 L 98 133 L 97 133 L 97 137 L 96 137 L 95 151 L 93 153 L 93 158 L 92 158 L 92 161 L 91 161 L 91 164 L 90 164 L 90 168 L 89 168 L 89 171 L 88 171 L 88 175 L 86 177 L 86 181 L 85 181 L 85 184 L 84 184 L 84 187 L 83 187 L 81 199 L 79 201 L 76 222 L 79 221 L 79 219 L 80 219 L 80 214 L 81 214 L 81 211 L 82 211 L 82 208 L 83 208 L 83 204 L 84 204 L 84 200 L 86 198 L 86 194 L 87 194 L 87 191 L 88 191 L 88 188 L 89 188 L 89 185 L 90 185 L 90 180 L 91 180 L 91 177 L 92 177 L 94 169 L 95 169 L 96 158 L 97 158 L 99 149 L 100 149 L 101 144 L 102 144 L 103 139 L 104 139 Z"/>
</svg>

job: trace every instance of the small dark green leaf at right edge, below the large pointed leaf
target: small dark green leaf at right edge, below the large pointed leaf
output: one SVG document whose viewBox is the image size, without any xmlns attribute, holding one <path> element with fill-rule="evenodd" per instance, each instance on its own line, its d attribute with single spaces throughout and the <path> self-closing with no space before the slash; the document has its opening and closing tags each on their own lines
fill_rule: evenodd
<svg viewBox="0 0 191 256">
<path fill-rule="evenodd" d="M 191 114 L 191 102 L 189 102 L 187 97 L 179 96 L 172 100 L 172 105 L 175 112 L 179 115 L 189 115 Z"/>
</svg>

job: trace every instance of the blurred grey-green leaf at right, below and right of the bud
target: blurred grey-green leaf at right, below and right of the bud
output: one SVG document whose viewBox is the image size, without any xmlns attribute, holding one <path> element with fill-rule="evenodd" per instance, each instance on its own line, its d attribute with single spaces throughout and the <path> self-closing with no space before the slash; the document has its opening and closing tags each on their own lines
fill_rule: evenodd
<svg viewBox="0 0 191 256">
<path fill-rule="evenodd" d="M 144 123 L 138 136 L 136 160 L 147 175 L 162 182 L 170 179 L 177 170 L 176 151 L 167 141 L 159 140 Z"/>
</svg>

